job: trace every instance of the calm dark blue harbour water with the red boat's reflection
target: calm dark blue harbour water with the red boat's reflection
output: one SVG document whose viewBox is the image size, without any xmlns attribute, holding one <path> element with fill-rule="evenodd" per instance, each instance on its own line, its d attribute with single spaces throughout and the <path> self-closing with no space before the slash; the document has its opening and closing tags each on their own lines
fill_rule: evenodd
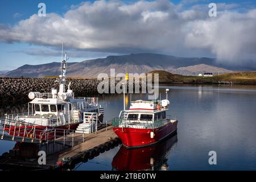
<svg viewBox="0 0 256 182">
<path fill-rule="evenodd" d="M 256 170 L 256 86 L 163 85 L 162 98 L 166 88 L 170 88 L 168 114 L 179 119 L 177 135 L 139 150 L 115 147 L 75 169 Z M 135 94 L 131 99 L 147 100 L 147 96 Z M 123 97 L 103 97 L 101 105 L 105 120 L 112 119 L 123 109 Z M 0 154 L 13 146 L 14 142 L 0 141 Z M 209 151 L 217 152 L 217 165 L 209 165 Z"/>
</svg>

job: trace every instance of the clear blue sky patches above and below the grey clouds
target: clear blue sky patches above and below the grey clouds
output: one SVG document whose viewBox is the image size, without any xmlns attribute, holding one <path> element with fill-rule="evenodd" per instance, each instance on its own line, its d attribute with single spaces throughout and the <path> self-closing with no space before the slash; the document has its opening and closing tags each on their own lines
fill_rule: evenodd
<svg viewBox="0 0 256 182">
<path fill-rule="evenodd" d="M 30 19 L 31 15 L 37 14 L 38 12 L 38 3 L 44 2 L 47 6 L 47 14 L 49 13 L 55 13 L 60 15 L 60 17 L 63 17 L 67 11 L 72 9 L 71 7 L 75 5 L 76 7 L 79 7 L 83 1 L 81 0 L 44 0 L 44 1 L 38 1 L 38 0 L 22 0 L 22 1 L 14 1 L 14 0 L 1 0 L 0 1 L 0 26 L 4 27 L 10 27 L 13 28 L 17 26 L 19 21 Z M 93 1 L 92 1 L 93 2 Z M 125 5 L 133 5 L 137 1 L 122 1 Z M 178 1 L 174 0 L 171 1 L 175 6 L 177 6 L 177 10 L 180 10 L 178 6 L 182 3 L 183 4 L 183 10 L 189 10 L 191 7 L 196 8 L 196 5 L 208 5 L 210 2 L 215 3 L 225 3 L 227 5 L 234 5 L 237 4 L 239 6 L 234 6 L 232 9 L 228 11 L 238 11 L 238 12 L 246 12 L 250 9 L 255 9 L 256 7 L 256 1 L 238 1 L 238 0 L 232 0 L 232 1 L 221 1 L 221 0 L 214 0 L 214 1 L 208 1 L 208 0 L 194 0 L 194 1 Z M 190 2 L 190 3 L 188 3 Z M 164 11 L 164 10 L 163 10 Z M 208 11 L 208 9 L 205 9 L 205 11 Z M 225 10 L 222 10 L 225 11 Z M 102 17 L 103 19 L 104 17 Z M 82 20 L 81 20 L 82 21 Z M 92 23 L 93 24 L 93 23 Z M 88 24 L 86 24 L 88 26 Z M 1 28 L 1 27 L 0 27 Z M 95 28 L 95 27 L 93 27 Z M 13 30 L 13 29 L 12 29 Z M 23 29 L 20 29 L 23 30 Z M 115 31 L 115 30 L 113 30 Z M 134 31 L 134 30 L 133 30 Z M 255 30 L 256 32 L 256 30 Z M 20 33 L 20 32 L 19 32 Z M 49 33 L 50 34 L 50 33 Z M 135 33 L 136 34 L 136 33 Z M 4 37 L 5 35 L 3 35 Z M 10 35 L 11 36 L 11 35 Z M 56 36 L 52 35 L 51 36 Z M 74 35 L 75 36 L 75 35 Z M 88 38 L 90 39 L 90 38 Z M 146 39 L 146 38 L 145 38 Z M 173 41 L 175 39 L 172 38 L 170 40 Z M 47 44 L 44 42 L 33 42 L 33 41 L 27 41 L 24 39 L 15 39 L 12 41 L 6 41 L 2 40 L 0 38 L 0 63 L 1 67 L 0 70 L 12 70 L 15 68 L 20 67 L 24 64 L 44 64 L 49 63 L 52 61 L 59 61 L 60 55 L 58 55 L 56 52 L 60 50 L 60 46 L 56 46 L 56 44 Z M 113 40 L 113 39 L 112 39 Z M 129 40 L 129 39 L 127 39 Z M 67 40 L 68 41 L 68 40 Z M 109 40 L 108 40 L 109 41 Z M 114 41 L 114 40 L 113 40 Z M 147 40 L 144 40 L 147 42 Z M 183 40 L 177 40 L 177 41 L 183 41 Z M 185 40 L 184 40 L 185 41 Z M 152 43 L 155 43 L 155 40 L 152 40 Z M 61 43 L 60 43 L 61 44 Z M 113 43 L 109 43 L 108 45 L 112 45 Z M 130 45 L 134 46 L 134 42 Z M 146 44 L 146 43 L 145 43 Z M 120 46 L 121 44 L 118 44 L 116 47 Z M 205 46 L 203 48 L 197 48 L 196 46 L 193 46 L 193 49 L 187 49 L 185 51 L 186 53 L 176 50 L 172 51 L 173 49 L 170 46 L 171 51 L 159 51 L 161 50 L 161 47 L 164 47 L 167 45 L 164 43 L 163 45 L 159 44 L 158 47 L 148 48 L 143 47 L 143 45 L 139 46 L 127 46 L 122 49 L 118 49 L 115 46 L 102 46 L 101 48 L 92 47 L 92 48 L 84 48 L 84 47 L 74 47 L 73 45 L 69 45 L 68 49 L 71 50 L 71 61 L 82 61 L 86 59 L 93 59 L 97 57 L 105 57 L 108 55 L 122 55 L 125 53 L 133 53 L 133 52 L 155 52 L 155 53 L 166 53 L 166 54 L 172 54 L 176 56 L 209 56 L 209 57 L 218 57 L 218 52 L 214 52 L 214 48 L 210 49 L 210 46 Z M 178 45 L 179 46 L 179 45 Z M 176 46 L 177 47 L 177 46 Z M 195 48 L 196 47 L 196 48 Z M 180 45 L 180 49 L 182 49 L 183 46 Z M 44 49 L 45 53 L 31 53 L 31 50 L 38 51 L 40 49 Z M 51 50 L 54 53 L 47 54 L 47 50 Z M 28 53 L 29 52 L 29 53 Z M 85 52 L 82 54 L 81 52 Z M 220 56 L 221 57 L 221 56 Z M 223 56 L 222 56 L 223 57 Z M 250 59 L 254 59 L 254 52 L 253 52 L 253 58 L 250 57 Z M 225 59 L 227 59 L 224 56 Z"/>
</svg>

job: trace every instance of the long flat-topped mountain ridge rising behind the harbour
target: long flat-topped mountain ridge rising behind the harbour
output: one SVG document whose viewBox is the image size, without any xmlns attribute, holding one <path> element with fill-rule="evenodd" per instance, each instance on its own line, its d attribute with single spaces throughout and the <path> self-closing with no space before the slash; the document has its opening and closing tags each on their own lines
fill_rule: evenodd
<svg viewBox="0 0 256 182">
<path fill-rule="evenodd" d="M 192 67 L 191 67 L 192 66 Z M 58 76 L 60 63 L 42 65 L 24 65 L 14 71 L 6 73 L 6 77 L 43 77 Z M 154 70 L 164 70 L 181 75 L 197 75 L 197 73 L 232 72 L 218 68 L 214 59 L 207 57 L 188 58 L 160 55 L 154 53 L 137 53 L 122 56 L 108 56 L 106 58 L 86 60 L 80 63 L 68 63 L 68 77 L 97 77 L 99 73 L 147 73 Z"/>
</svg>

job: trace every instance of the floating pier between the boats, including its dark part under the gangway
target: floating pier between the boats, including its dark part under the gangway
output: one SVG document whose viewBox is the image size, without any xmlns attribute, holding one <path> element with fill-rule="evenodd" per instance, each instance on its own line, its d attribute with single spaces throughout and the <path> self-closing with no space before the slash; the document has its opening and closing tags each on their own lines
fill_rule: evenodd
<svg viewBox="0 0 256 182">
<path fill-rule="evenodd" d="M 0 168 L 8 170 L 17 168 L 34 170 L 72 169 L 75 164 L 82 161 L 87 162 L 88 159 L 93 159 L 94 156 L 118 146 L 121 141 L 114 134 L 112 126 L 108 125 L 102 127 L 97 133 L 80 134 L 72 132 L 62 138 L 59 137 L 40 144 L 34 143 L 32 144 L 34 148 L 31 148 L 31 143 L 27 144 L 30 147 L 24 147 L 25 151 L 20 148 L 20 150 L 10 150 L 9 154 L 0 156 Z M 45 151 L 48 154 L 46 156 L 46 165 L 39 165 L 39 156 L 35 158 L 38 151 Z M 30 155 L 31 152 L 34 154 L 34 158 L 29 159 L 26 155 Z"/>
</svg>

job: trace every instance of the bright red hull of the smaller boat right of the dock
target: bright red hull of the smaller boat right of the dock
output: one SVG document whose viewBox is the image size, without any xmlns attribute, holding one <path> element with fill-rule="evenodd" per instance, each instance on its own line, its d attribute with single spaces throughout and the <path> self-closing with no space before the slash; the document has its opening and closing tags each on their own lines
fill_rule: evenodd
<svg viewBox="0 0 256 182">
<path fill-rule="evenodd" d="M 134 129 L 113 127 L 114 133 L 121 139 L 123 145 L 127 148 L 143 147 L 155 144 L 160 140 L 168 137 L 177 130 L 177 121 L 168 123 L 156 129 Z M 154 138 L 151 138 L 150 133 L 154 132 Z"/>
</svg>

